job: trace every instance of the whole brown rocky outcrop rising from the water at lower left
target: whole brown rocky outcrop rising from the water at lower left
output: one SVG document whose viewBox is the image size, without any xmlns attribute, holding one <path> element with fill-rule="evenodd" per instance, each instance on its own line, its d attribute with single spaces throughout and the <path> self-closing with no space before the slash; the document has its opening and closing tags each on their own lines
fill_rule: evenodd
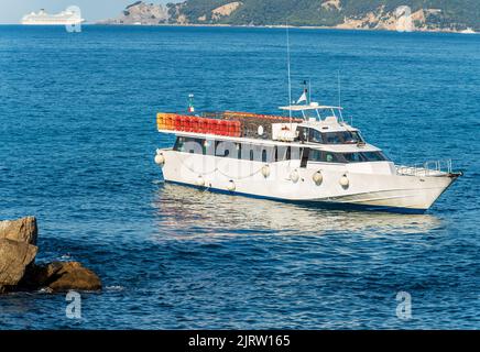
<svg viewBox="0 0 480 352">
<path fill-rule="evenodd" d="M 14 290 L 98 290 L 100 278 L 78 262 L 35 264 L 37 227 L 33 217 L 0 221 L 0 294 Z"/>
</svg>

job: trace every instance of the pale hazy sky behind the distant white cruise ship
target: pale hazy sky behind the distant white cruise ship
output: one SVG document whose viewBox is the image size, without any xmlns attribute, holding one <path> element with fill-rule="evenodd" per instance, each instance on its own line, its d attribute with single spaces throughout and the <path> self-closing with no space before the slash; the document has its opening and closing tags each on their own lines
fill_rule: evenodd
<svg viewBox="0 0 480 352">
<path fill-rule="evenodd" d="M 77 6 L 87 21 L 117 16 L 128 4 L 135 0 L 0 0 L 0 23 L 19 23 L 20 19 L 32 11 L 45 9 L 57 13 L 69 6 Z M 178 0 L 146 0 L 148 3 L 179 2 Z"/>
</svg>

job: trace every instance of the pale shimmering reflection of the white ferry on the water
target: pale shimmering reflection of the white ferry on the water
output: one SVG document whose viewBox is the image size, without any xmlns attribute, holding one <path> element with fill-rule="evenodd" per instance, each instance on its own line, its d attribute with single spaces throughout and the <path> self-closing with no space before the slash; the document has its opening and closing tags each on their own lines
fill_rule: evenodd
<svg viewBox="0 0 480 352">
<path fill-rule="evenodd" d="M 319 209 L 163 183 L 153 206 L 162 235 L 175 239 L 342 232 L 382 237 L 424 233 L 441 227 L 440 219 L 430 215 Z"/>
</svg>

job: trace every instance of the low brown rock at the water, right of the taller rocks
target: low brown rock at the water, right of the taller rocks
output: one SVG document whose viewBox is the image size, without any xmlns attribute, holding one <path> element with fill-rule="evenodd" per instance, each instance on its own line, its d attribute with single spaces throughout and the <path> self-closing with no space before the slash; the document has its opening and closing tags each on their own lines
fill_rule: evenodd
<svg viewBox="0 0 480 352">
<path fill-rule="evenodd" d="M 78 262 L 53 262 L 32 267 L 26 286 L 48 287 L 53 292 L 99 290 L 101 282 L 97 274 Z"/>
</svg>

